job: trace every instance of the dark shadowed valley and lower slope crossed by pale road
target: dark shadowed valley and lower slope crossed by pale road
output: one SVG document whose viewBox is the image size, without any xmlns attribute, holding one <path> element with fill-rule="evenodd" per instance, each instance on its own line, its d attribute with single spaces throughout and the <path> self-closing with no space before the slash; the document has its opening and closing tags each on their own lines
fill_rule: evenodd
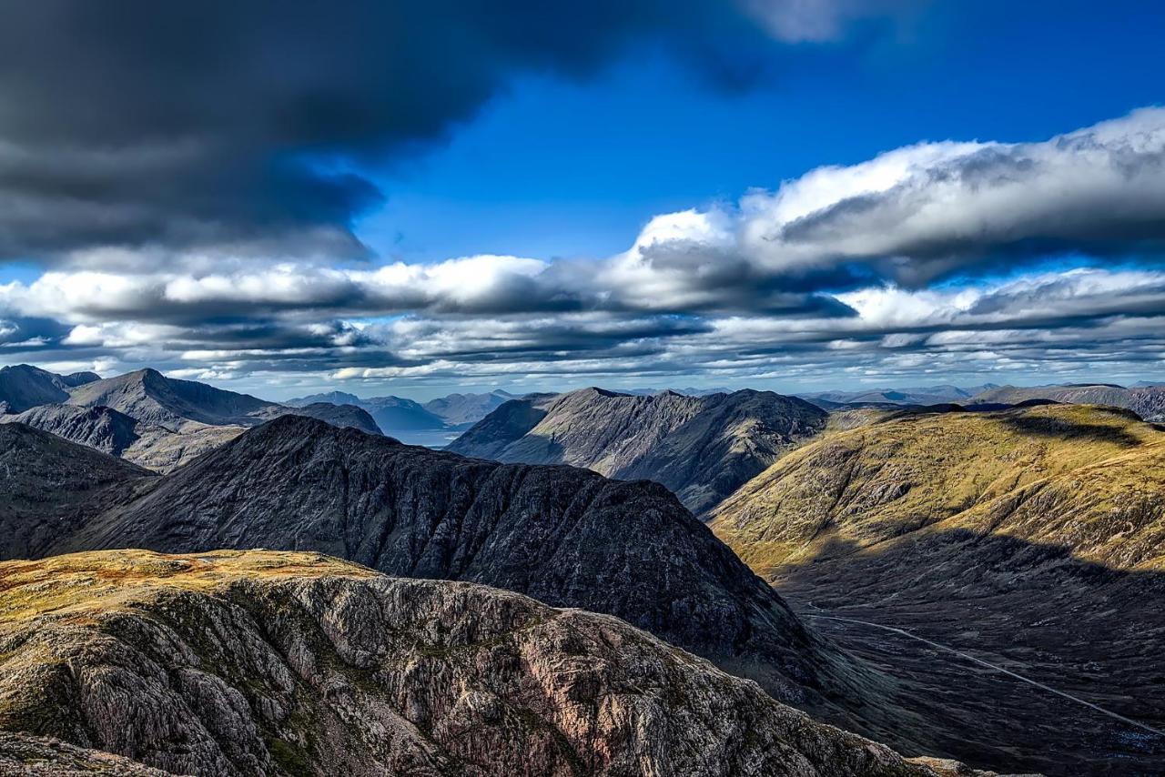
<svg viewBox="0 0 1165 777">
<path fill-rule="evenodd" d="M 1165 736 L 909 637 L 898 627 L 1165 728 L 1165 573 L 1062 546 L 927 529 L 873 549 L 835 539 L 772 573 L 811 624 L 897 677 L 897 702 L 946 732 L 946 753 L 1048 775 L 1149 775 Z"/>
</svg>

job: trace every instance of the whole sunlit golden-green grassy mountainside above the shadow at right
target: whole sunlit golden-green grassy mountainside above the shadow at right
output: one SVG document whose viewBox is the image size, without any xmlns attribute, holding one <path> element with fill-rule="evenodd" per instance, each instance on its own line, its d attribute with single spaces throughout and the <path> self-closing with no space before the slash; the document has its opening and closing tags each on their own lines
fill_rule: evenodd
<svg viewBox="0 0 1165 777">
<path fill-rule="evenodd" d="M 1163 514 L 1165 432 L 1065 404 L 831 424 L 726 500 L 712 528 L 762 575 L 939 523 L 1160 568 Z"/>
</svg>

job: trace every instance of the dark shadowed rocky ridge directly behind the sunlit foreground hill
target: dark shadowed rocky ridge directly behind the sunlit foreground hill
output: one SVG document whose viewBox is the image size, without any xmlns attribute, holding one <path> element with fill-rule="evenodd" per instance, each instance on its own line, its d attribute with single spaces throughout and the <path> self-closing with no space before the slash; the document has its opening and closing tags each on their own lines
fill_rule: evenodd
<svg viewBox="0 0 1165 777">
<path fill-rule="evenodd" d="M 861 674 L 663 487 L 510 465 L 285 416 L 106 509 L 54 552 L 316 550 L 616 615 L 847 720 Z M 868 679 L 868 678 L 867 678 Z M 864 680 L 863 680 L 864 681 Z"/>
</svg>

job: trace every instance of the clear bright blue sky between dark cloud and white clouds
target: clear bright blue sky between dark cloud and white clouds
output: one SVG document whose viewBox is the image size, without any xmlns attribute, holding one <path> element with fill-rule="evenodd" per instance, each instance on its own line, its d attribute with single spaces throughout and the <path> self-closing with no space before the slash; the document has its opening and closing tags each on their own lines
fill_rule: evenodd
<svg viewBox="0 0 1165 777">
<path fill-rule="evenodd" d="M 732 93 L 650 48 L 584 83 L 524 76 L 379 172 L 388 203 L 360 234 L 407 261 L 602 256 L 656 213 L 822 164 L 925 140 L 1044 140 L 1165 101 L 1153 6 L 931 3 L 884 37 L 803 44 Z"/>
</svg>

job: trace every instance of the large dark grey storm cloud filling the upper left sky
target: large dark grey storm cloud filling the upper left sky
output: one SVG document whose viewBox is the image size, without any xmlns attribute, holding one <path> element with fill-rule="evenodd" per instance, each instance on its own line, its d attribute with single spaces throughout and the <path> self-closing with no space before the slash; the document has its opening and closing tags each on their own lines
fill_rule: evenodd
<svg viewBox="0 0 1165 777">
<path fill-rule="evenodd" d="M 659 41 L 739 75 L 763 36 L 712 0 L 0 0 L 0 261 L 358 256 L 352 219 L 382 192 L 353 167 L 440 139 L 515 71 L 585 77 Z"/>
</svg>

